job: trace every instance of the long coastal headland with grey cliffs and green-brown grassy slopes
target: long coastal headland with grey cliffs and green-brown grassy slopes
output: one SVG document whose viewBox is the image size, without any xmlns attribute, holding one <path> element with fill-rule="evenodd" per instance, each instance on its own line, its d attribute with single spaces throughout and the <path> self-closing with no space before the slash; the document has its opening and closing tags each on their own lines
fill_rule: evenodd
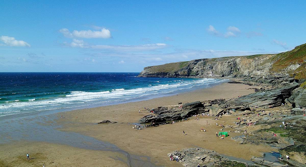
<svg viewBox="0 0 306 167">
<path fill-rule="evenodd" d="M 306 44 L 279 54 L 258 54 L 211 59 L 196 59 L 145 67 L 139 76 L 147 77 L 201 77 L 244 78 L 273 74 L 306 78 Z"/>
</svg>

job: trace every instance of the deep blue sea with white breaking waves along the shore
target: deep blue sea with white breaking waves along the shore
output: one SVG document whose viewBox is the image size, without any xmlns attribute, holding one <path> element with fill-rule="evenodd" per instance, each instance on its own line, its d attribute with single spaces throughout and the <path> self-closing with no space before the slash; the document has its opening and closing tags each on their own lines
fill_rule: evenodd
<svg viewBox="0 0 306 167">
<path fill-rule="evenodd" d="M 221 79 L 136 77 L 139 73 L 1 72 L 0 117 L 145 100 Z"/>
</svg>

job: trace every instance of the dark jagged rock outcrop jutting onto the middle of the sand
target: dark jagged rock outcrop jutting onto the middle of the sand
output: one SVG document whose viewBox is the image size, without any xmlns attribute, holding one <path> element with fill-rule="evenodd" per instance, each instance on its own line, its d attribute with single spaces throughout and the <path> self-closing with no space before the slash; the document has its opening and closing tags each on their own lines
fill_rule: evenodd
<svg viewBox="0 0 306 167">
<path fill-rule="evenodd" d="M 160 106 L 152 111 L 155 115 L 147 115 L 141 118 L 139 123 L 179 120 L 205 112 L 205 109 L 201 102 L 192 102 L 181 105 Z"/>
</svg>

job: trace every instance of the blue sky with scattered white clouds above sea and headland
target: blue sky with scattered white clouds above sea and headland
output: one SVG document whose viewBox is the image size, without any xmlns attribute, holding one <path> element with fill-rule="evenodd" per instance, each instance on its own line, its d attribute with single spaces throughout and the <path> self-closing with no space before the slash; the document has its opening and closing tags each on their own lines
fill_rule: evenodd
<svg viewBox="0 0 306 167">
<path fill-rule="evenodd" d="M 306 43 L 306 1 L 2 1 L 0 72 L 140 72 Z"/>
</svg>

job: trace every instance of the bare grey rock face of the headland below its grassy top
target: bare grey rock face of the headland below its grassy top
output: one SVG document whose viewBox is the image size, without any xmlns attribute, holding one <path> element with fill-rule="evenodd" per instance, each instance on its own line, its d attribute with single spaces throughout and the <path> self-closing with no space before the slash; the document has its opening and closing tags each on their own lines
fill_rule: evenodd
<svg viewBox="0 0 306 167">
<path fill-rule="evenodd" d="M 144 68 L 139 76 L 164 76 L 164 77 L 244 77 L 252 74 L 265 75 L 271 68 L 271 63 L 262 63 L 273 55 L 258 57 L 226 57 L 213 59 L 197 59 L 189 62 L 178 62 L 181 69 L 172 70 L 174 64 L 150 66 Z M 184 63 L 184 64 L 183 64 Z M 171 69 L 171 70 L 167 70 Z"/>
</svg>

